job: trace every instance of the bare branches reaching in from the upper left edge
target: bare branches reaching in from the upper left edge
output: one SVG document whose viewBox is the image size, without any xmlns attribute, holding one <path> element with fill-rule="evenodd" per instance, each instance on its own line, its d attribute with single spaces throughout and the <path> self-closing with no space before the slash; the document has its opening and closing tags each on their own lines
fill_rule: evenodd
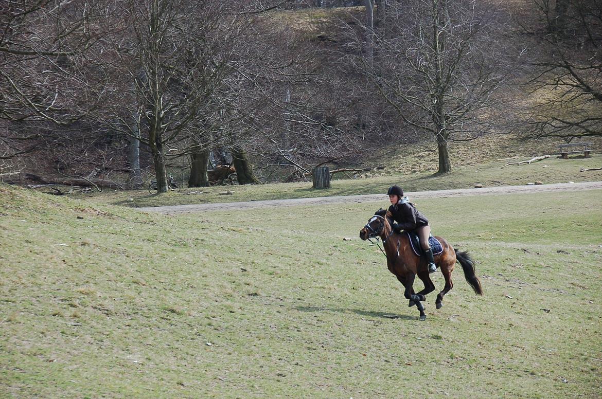
<svg viewBox="0 0 602 399">
<path fill-rule="evenodd" d="M 0 13 L 0 157 L 42 149 L 58 125 L 81 119 L 105 76 L 88 57 L 104 32 L 104 1 L 15 0 Z M 105 4 L 106 5 L 106 4 Z M 113 28 L 111 28 L 113 30 Z"/>
</svg>

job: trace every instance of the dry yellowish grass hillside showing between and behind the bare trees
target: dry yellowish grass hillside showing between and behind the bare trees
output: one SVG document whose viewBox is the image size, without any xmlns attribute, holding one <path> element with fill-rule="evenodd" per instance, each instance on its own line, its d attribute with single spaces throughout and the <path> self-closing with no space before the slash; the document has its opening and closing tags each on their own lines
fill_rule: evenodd
<svg viewBox="0 0 602 399">
<path fill-rule="evenodd" d="M 480 119 L 494 126 L 494 133 L 474 137 L 460 131 L 459 141 L 448 143 L 453 165 L 456 166 L 557 153 L 557 145 L 565 143 L 566 138 L 533 138 L 529 120 L 568 120 L 577 113 L 588 114 L 591 118 L 602 116 L 602 107 L 586 101 L 583 96 L 574 95 L 566 100 L 567 94 L 559 85 L 533 83 L 541 71 L 532 64 L 547 57 L 544 43 L 536 35 L 536 32 L 546 29 L 545 19 L 538 16 L 541 10 L 536 3 L 520 0 L 488 4 L 488 7 L 499 8 L 507 16 L 505 22 L 509 23 L 508 31 L 497 40 L 506 40 L 509 46 L 523 46 L 525 54 L 514 61 L 516 72 L 509 75 L 506 87 L 495 94 L 498 102 L 503 104 L 500 110 L 497 114 L 485 112 L 480 116 Z M 276 23 L 286 23 L 291 29 L 302 32 L 305 39 L 317 48 L 317 57 L 323 65 L 336 62 L 336 57 L 343 57 L 345 51 L 349 51 L 349 47 L 346 47 L 352 39 L 349 28 L 355 29 L 355 34 L 361 36 L 365 8 L 273 11 L 270 17 Z M 526 25 L 527 21 L 529 26 Z M 568 79 L 565 83 L 575 84 L 575 79 Z M 599 79 L 597 83 L 602 84 Z M 533 110 L 536 110 L 535 113 Z M 362 153 L 358 164 L 375 165 L 382 159 L 380 163 L 396 165 L 400 171 L 436 170 L 437 153 L 432 138 L 411 134 L 403 129 L 388 132 L 385 137 L 383 142 L 375 138 L 376 147 L 367 143 L 369 150 Z M 595 150 L 602 150 L 600 135 L 585 137 L 582 141 L 591 141 Z"/>
</svg>

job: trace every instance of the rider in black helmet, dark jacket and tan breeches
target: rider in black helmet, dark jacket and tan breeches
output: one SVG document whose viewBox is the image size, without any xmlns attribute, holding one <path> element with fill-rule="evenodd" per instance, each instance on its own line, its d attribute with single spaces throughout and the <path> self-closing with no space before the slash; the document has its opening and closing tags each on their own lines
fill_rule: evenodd
<svg viewBox="0 0 602 399">
<path fill-rule="evenodd" d="M 391 201 L 389 212 L 393 215 L 393 220 L 397 222 L 393 223 L 393 229 L 412 231 L 418 235 L 420 245 L 426 254 L 427 261 L 429 261 L 429 273 L 433 273 L 437 268 L 435 266 L 435 259 L 433 259 L 433 251 L 430 249 L 429 244 L 429 221 L 423 214 L 417 211 L 408 197 L 403 196 L 403 190 L 398 185 L 389 187 L 387 195 L 389 196 L 389 201 Z"/>
</svg>

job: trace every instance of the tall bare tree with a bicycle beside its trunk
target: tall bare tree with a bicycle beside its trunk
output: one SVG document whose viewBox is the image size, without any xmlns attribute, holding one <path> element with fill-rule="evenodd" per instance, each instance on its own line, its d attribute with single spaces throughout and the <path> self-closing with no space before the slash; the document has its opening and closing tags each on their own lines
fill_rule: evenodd
<svg viewBox="0 0 602 399">
<path fill-rule="evenodd" d="M 233 43 L 245 34 L 247 20 L 253 17 L 244 11 L 255 10 L 255 4 L 218 0 L 126 4 L 128 29 L 122 37 L 114 37 L 107 63 L 115 76 L 112 87 L 121 89 L 119 106 L 108 123 L 149 146 L 163 193 L 166 157 L 190 154 L 193 165 L 206 173 L 203 153 L 215 145 L 216 135 L 225 132 L 225 120 L 237 117 L 226 107 L 228 79 L 238 74 Z"/>
</svg>

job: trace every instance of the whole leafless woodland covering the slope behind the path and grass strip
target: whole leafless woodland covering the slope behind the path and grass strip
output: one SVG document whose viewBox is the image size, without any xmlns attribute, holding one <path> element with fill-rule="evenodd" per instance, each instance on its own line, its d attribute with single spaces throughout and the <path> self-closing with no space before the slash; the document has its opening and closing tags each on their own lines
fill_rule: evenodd
<svg viewBox="0 0 602 399">
<path fill-rule="evenodd" d="M 600 0 L 3 0 L 0 178 L 300 181 L 424 141 L 602 135 Z"/>
</svg>

